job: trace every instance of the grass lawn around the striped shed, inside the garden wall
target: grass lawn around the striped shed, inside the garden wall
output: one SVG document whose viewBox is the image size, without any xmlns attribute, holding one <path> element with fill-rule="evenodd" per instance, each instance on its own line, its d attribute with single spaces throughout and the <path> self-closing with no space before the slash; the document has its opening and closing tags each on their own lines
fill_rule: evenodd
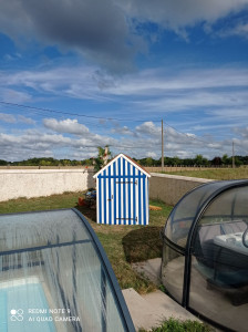
<svg viewBox="0 0 248 332">
<path fill-rule="evenodd" d="M 97 234 L 121 288 L 132 287 L 140 293 L 153 291 L 155 286 L 137 274 L 131 268 L 131 262 L 161 257 L 159 230 L 173 207 L 152 200 L 151 204 L 162 207 L 162 210 L 149 211 L 149 226 L 146 227 L 97 225 L 95 210 L 78 206 L 80 195 L 82 193 L 64 193 L 49 197 L 11 199 L 0 203 L 0 214 L 76 207 Z"/>
</svg>

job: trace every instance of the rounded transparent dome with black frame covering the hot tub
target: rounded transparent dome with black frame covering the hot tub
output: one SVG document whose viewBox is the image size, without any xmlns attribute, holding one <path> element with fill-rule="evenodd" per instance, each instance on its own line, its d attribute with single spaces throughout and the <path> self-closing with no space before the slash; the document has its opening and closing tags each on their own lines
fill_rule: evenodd
<svg viewBox="0 0 248 332">
<path fill-rule="evenodd" d="M 247 331 L 248 180 L 208 183 L 178 201 L 164 229 L 162 280 L 190 311 Z"/>
</svg>

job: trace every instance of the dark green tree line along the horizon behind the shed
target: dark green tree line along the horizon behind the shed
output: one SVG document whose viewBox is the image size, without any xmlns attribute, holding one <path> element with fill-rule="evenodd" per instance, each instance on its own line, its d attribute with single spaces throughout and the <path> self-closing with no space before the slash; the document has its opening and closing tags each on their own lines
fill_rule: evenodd
<svg viewBox="0 0 248 332">
<path fill-rule="evenodd" d="M 101 152 L 99 152 L 101 154 Z M 100 157 L 100 156 L 99 156 Z M 55 158 L 30 158 L 21 162 L 8 162 L 0 159 L 0 166 L 94 166 L 97 164 L 97 158 L 89 158 L 83 160 L 71 160 L 71 159 L 55 159 Z M 154 159 L 152 157 L 133 159 L 138 163 L 141 166 L 161 166 L 161 158 Z M 195 158 L 179 158 L 175 157 L 165 157 L 164 165 L 167 166 L 231 166 L 232 157 L 224 155 L 223 157 L 216 156 L 213 159 L 207 159 L 203 155 L 196 155 Z M 235 166 L 248 165 L 248 156 L 235 156 Z"/>
</svg>

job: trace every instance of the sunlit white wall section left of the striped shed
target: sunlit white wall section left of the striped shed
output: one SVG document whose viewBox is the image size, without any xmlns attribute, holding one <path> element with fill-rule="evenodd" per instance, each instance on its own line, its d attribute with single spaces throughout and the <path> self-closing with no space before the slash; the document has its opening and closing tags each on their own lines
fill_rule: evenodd
<svg viewBox="0 0 248 332">
<path fill-rule="evenodd" d="M 0 169 L 0 201 L 40 197 L 95 187 L 87 169 Z"/>
</svg>

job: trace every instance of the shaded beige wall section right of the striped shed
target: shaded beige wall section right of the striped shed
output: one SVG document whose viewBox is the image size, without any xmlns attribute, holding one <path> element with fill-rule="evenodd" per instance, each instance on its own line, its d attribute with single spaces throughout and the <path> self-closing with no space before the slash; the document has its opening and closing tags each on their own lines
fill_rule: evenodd
<svg viewBox="0 0 248 332">
<path fill-rule="evenodd" d="M 188 190 L 211 179 L 151 173 L 149 198 L 175 205 Z"/>
</svg>

